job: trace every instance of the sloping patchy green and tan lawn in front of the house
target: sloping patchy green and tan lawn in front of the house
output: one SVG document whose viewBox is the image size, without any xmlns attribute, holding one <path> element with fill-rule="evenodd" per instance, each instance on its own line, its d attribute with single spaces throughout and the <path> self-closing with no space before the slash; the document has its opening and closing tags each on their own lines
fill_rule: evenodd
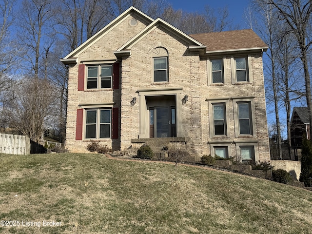
<svg viewBox="0 0 312 234">
<path fill-rule="evenodd" d="M 0 155 L 0 178 L 0 220 L 61 222 L 4 234 L 312 233 L 310 191 L 210 168 Z"/>
</svg>

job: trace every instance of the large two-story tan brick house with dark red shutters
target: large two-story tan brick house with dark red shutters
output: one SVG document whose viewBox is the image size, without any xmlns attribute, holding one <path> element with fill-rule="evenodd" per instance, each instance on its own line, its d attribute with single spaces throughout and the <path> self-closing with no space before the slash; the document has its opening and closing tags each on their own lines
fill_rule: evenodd
<svg viewBox="0 0 312 234">
<path fill-rule="evenodd" d="M 129 8 L 61 61 L 69 65 L 66 147 L 166 142 L 270 160 L 262 53 L 252 31 L 187 35 Z"/>
</svg>

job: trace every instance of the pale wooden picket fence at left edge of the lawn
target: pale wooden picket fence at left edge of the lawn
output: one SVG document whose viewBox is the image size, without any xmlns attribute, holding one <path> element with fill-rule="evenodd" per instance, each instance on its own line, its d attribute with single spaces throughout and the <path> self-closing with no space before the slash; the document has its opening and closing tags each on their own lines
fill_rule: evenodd
<svg viewBox="0 0 312 234">
<path fill-rule="evenodd" d="M 0 153 L 11 155 L 29 155 L 29 137 L 0 133 Z"/>
</svg>

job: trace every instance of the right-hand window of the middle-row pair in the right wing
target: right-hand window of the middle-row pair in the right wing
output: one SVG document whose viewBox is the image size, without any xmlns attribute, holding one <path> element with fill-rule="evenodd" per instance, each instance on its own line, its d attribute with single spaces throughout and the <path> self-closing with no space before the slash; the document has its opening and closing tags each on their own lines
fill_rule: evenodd
<svg viewBox="0 0 312 234">
<path fill-rule="evenodd" d="M 238 102 L 238 122 L 240 135 L 252 135 L 250 102 Z"/>
</svg>

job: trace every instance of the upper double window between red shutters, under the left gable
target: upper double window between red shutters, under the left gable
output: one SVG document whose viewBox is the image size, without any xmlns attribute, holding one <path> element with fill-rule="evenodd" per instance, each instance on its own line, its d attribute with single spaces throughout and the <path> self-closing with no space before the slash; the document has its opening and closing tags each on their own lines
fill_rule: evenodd
<svg viewBox="0 0 312 234">
<path fill-rule="evenodd" d="M 112 88 L 113 66 L 88 66 L 87 89 Z"/>
</svg>

